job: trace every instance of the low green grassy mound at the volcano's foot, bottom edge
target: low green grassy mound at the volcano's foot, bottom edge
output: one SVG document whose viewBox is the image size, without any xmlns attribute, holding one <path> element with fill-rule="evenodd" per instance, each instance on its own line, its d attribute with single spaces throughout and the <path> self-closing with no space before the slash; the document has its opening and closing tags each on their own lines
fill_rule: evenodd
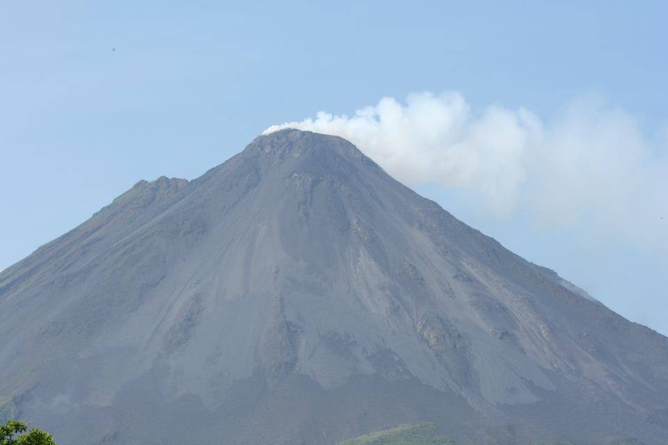
<svg viewBox="0 0 668 445">
<path fill-rule="evenodd" d="M 383 430 L 349 439 L 340 445 L 452 445 L 448 439 L 436 437 L 434 423 L 400 425 L 391 430 Z"/>
</svg>

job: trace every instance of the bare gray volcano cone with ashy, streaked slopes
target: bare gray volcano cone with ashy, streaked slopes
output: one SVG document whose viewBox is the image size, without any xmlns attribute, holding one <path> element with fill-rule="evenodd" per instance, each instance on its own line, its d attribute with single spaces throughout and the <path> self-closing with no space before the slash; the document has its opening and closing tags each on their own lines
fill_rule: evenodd
<svg viewBox="0 0 668 445">
<path fill-rule="evenodd" d="M 668 443 L 668 339 L 585 297 L 346 140 L 279 131 L 0 273 L 0 417 L 74 445 L 417 421 L 458 444 Z"/>
</svg>

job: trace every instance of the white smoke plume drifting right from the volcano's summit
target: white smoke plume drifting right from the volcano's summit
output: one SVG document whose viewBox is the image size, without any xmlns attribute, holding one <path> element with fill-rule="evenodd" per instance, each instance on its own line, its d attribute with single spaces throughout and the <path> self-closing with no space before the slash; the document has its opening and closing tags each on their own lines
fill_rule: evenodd
<svg viewBox="0 0 668 445">
<path fill-rule="evenodd" d="M 544 225 L 668 248 L 666 138 L 647 138 L 616 108 L 581 101 L 544 122 L 525 108 L 474 113 L 459 93 L 422 92 L 265 133 L 287 127 L 342 136 L 409 186 L 467 191 L 489 216 L 523 212 Z"/>
</svg>

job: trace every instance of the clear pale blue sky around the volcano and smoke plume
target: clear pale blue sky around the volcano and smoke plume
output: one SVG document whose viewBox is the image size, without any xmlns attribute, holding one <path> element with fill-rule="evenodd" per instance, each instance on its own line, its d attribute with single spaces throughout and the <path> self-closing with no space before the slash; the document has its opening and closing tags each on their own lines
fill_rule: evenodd
<svg viewBox="0 0 668 445">
<path fill-rule="evenodd" d="M 644 165 L 666 156 L 665 2 L 55 3 L 0 6 L 0 268 L 139 179 L 198 177 L 271 124 L 321 110 L 353 115 L 381 97 L 454 91 L 474 115 L 526 108 L 554 140 L 571 128 L 555 123 L 559 116 L 596 103 L 592 120 L 623 115 L 605 120 L 612 136 L 633 123 Z M 601 147 L 605 155 L 605 140 Z M 661 168 L 637 179 L 650 170 L 659 177 Z M 411 186 L 668 333 L 658 214 L 650 224 L 629 208 L 620 222 L 610 205 L 553 225 L 523 205 L 491 216 L 475 191 L 438 177 Z M 603 199 L 617 202 L 623 190 Z M 619 227 L 607 233 L 613 221 L 603 216 Z"/>
</svg>

